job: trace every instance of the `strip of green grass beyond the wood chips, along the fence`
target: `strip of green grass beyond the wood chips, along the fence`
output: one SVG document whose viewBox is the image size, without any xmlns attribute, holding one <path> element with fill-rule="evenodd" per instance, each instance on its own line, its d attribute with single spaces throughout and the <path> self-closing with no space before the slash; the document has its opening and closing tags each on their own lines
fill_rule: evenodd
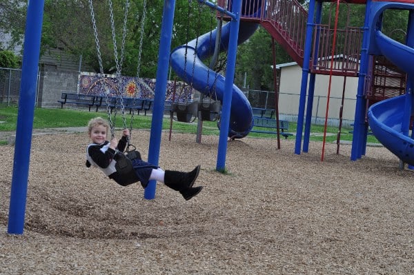
<svg viewBox="0 0 414 275">
<path fill-rule="evenodd" d="M 14 131 L 17 125 L 17 107 L 0 107 L 0 132 Z M 71 110 L 71 109 L 46 109 L 35 108 L 34 109 L 34 129 L 43 128 L 66 128 L 66 127 L 81 127 L 86 126 L 88 121 L 95 116 L 102 116 L 108 118 L 106 112 L 88 112 L 85 110 Z M 112 114 L 112 118 L 114 115 Z M 115 115 L 115 126 L 117 128 L 124 127 L 124 121 L 121 116 L 121 112 Z M 130 128 L 130 115 L 126 114 L 126 127 Z M 287 132 L 296 132 L 297 123 L 290 122 L 289 130 Z M 135 115 L 132 124 L 133 129 L 150 129 L 151 128 L 151 116 L 144 116 L 143 114 Z M 163 126 L 164 130 L 170 128 L 170 119 L 164 118 Z M 177 132 L 197 133 L 197 121 L 193 123 L 181 123 L 173 121 L 172 130 Z M 353 135 L 349 133 L 351 128 L 342 128 L 341 140 L 352 141 Z M 338 128 L 328 127 L 326 129 L 326 142 L 335 142 L 337 139 Z M 311 126 L 311 141 L 323 141 L 324 125 L 312 125 Z M 215 121 L 203 121 L 203 134 L 211 135 L 219 134 L 217 128 L 217 122 Z M 270 138 L 275 139 L 275 134 L 262 134 L 262 133 L 250 133 L 249 137 L 256 138 Z M 283 137 L 282 137 L 283 139 Z M 290 136 L 288 139 L 295 139 Z M 378 143 L 374 136 L 368 136 L 369 143 Z M 0 143 L 1 145 L 1 143 Z"/>
</svg>

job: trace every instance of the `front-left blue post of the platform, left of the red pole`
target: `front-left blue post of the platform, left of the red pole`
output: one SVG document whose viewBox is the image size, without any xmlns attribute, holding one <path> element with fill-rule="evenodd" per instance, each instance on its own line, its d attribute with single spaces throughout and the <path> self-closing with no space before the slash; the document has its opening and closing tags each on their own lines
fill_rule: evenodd
<svg viewBox="0 0 414 275">
<path fill-rule="evenodd" d="M 295 154 L 300 154 L 300 149 L 302 145 L 302 131 L 304 128 L 306 90 L 308 87 L 309 60 L 311 59 L 311 49 L 312 49 L 312 32 L 313 32 L 314 12 L 315 12 L 315 0 L 311 0 L 309 2 L 308 21 L 306 23 L 304 65 L 302 68 L 302 83 L 301 83 L 300 96 L 299 96 L 299 110 L 297 111 Z"/>
</svg>

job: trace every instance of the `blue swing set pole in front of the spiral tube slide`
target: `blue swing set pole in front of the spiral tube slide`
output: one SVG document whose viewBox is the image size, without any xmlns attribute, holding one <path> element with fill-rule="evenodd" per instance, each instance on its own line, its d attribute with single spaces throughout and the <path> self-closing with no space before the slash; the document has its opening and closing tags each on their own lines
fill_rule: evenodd
<svg viewBox="0 0 414 275">
<path fill-rule="evenodd" d="M 223 107 L 221 113 L 221 127 L 219 135 L 219 147 L 217 150 L 216 170 L 222 171 L 226 168 L 227 137 L 230 123 L 231 97 L 233 92 L 233 80 L 235 77 L 235 64 L 237 56 L 237 39 L 239 37 L 240 12 L 242 10 L 242 0 L 234 0 L 232 12 L 236 15 L 230 21 L 230 35 L 228 42 L 228 57 L 226 66 L 226 80 L 224 81 Z"/>
</svg>

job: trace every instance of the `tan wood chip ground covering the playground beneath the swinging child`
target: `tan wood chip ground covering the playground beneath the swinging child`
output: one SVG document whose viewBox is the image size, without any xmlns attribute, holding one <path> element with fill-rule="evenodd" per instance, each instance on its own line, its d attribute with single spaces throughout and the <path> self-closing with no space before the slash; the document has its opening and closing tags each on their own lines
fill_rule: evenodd
<svg viewBox="0 0 414 275">
<path fill-rule="evenodd" d="M 132 136 L 148 155 L 149 132 Z M 0 274 L 414 274 L 414 174 L 384 147 L 163 133 L 159 165 L 200 163 L 190 201 L 154 200 L 86 168 L 86 134 L 34 136 L 23 235 L 7 234 L 14 147 L 2 146 Z"/>
</svg>

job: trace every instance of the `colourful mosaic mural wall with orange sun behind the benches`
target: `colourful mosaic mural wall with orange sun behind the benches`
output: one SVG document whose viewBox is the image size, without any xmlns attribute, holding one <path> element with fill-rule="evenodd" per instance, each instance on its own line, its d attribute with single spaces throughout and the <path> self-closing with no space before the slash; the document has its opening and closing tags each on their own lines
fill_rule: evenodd
<svg viewBox="0 0 414 275">
<path fill-rule="evenodd" d="M 175 90 L 175 94 L 174 94 Z M 81 72 L 79 74 L 79 94 L 97 96 L 123 96 L 139 99 L 154 99 L 155 79 L 137 77 L 115 77 L 113 74 L 95 74 Z M 184 82 L 168 81 L 166 101 L 187 102 L 193 100 L 193 89 Z"/>
</svg>

